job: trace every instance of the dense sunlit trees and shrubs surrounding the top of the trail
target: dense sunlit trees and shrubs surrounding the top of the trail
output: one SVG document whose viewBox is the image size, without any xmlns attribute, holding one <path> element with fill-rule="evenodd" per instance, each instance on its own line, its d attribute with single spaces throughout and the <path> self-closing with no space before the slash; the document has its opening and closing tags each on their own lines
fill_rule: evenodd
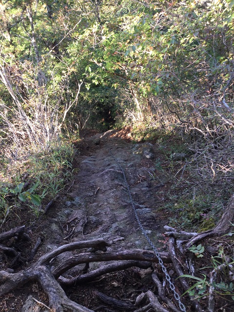
<svg viewBox="0 0 234 312">
<path fill-rule="evenodd" d="M 1 225 L 64 188 L 79 131 L 131 126 L 164 151 L 171 225 L 215 226 L 233 193 L 234 0 L 0 0 L 0 14 Z"/>
</svg>

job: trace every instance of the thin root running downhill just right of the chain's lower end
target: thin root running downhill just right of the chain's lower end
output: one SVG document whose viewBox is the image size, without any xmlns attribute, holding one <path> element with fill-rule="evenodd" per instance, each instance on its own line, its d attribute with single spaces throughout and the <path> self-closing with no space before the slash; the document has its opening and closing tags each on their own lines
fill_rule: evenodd
<svg viewBox="0 0 234 312">
<path fill-rule="evenodd" d="M 189 289 L 189 284 L 187 283 L 186 279 L 184 277 L 181 277 L 181 275 L 184 274 L 184 272 L 182 271 L 182 268 L 179 264 L 179 261 L 177 259 L 177 255 L 176 255 L 176 249 L 175 249 L 175 238 L 174 237 L 170 237 L 168 240 L 168 248 L 169 248 L 169 254 L 171 256 L 172 259 L 172 263 L 174 265 L 174 268 L 176 270 L 177 275 L 179 276 L 179 281 L 180 284 L 183 288 L 183 290 L 186 292 Z M 197 312 L 201 312 L 201 306 L 199 305 L 198 301 L 195 300 L 194 296 L 189 296 L 190 300 L 192 300 L 192 305 L 195 309 L 195 311 Z"/>
</svg>

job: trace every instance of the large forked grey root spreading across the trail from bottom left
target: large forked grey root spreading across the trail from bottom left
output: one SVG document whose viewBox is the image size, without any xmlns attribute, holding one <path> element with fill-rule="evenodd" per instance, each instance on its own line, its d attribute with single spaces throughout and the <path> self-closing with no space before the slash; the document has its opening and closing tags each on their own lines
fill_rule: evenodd
<svg viewBox="0 0 234 312">
<path fill-rule="evenodd" d="M 65 292 L 62 290 L 59 282 L 55 277 L 59 277 L 62 273 L 66 272 L 70 268 L 80 263 L 97 262 L 97 261 L 110 261 L 110 260 L 122 260 L 128 259 L 131 261 L 121 261 L 120 263 L 108 264 L 106 267 L 99 268 L 90 273 L 84 273 L 75 278 L 72 282 L 84 282 L 94 280 L 96 277 L 106 274 L 108 272 L 122 270 L 131 266 L 138 266 L 141 268 L 148 268 L 153 262 L 157 262 L 156 256 L 153 252 L 144 250 L 137 251 L 122 251 L 118 253 L 101 253 L 96 254 L 98 250 L 105 251 L 106 246 L 110 246 L 111 243 L 104 239 L 96 239 L 89 241 L 80 241 L 60 246 L 56 250 L 49 252 L 41 256 L 38 261 L 29 267 L 25 271 L 19 273 L 8 273 L 5 271 L 0 272 L 0 296 L 11 292 L 25 283 L 30 281 L 38 281 L 44 292 L 49 298 L 49 306 L 51 311 L 63 312 L 63 311 L 76 311 L 76 312 L 90 312 L 91 310 L 71 301 L 67 298 Z M 58 266 L 54 272 L 51 272 L 49 263 L 50 261 L 67 251 L 73 251 L 77 249 L 91 248 L 91 252 L 75 255 L 71 258 L 64 259 L 64 265 Z M 170 261 L 167 253 L 161 254 L 161 256 Z M 144 260 L 136 261 L 136 260 Z M 147 261 L 148 260 L 148 261 Z M 149 262 L 150 261 L 150 262 Z M 61 281 L 64 281 L 63 277 L 60 277 Z M 67 310 L 66 310 L 67 309 Z"/>
</svg>

